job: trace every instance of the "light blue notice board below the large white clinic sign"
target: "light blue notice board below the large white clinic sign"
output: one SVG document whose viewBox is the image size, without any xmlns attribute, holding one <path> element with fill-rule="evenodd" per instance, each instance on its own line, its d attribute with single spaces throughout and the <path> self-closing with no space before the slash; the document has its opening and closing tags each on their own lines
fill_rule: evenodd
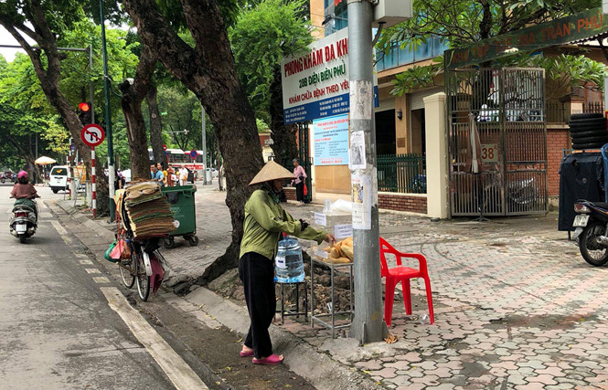
<svg viewBox="0 0 608 390">
<path fill-rule="evenodd" d="M 315 165 L 348 163 L 348 115 L 313 121 Z"/>
</svg>

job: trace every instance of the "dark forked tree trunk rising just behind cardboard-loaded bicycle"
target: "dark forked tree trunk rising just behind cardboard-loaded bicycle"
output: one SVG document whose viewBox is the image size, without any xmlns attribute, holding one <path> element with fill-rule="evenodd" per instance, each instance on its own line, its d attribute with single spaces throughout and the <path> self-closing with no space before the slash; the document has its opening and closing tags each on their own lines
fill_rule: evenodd
<svg viewBox="0 0 608 390">
<path fill-rule="evenodd" d="M 142 101 L 152 88 L 152 75 L 156 66 L 156 58 L 152 50 L 144 45 L 137 64 L 133 85 L 124 80 L 119 88 L 123 92 L 121 106 L 129 139 L 131 157 L 131 174 L 133 178 L 150 177 L 150 158 L 148 157 L 148 142 L 145 134 Z"/>
</svg>

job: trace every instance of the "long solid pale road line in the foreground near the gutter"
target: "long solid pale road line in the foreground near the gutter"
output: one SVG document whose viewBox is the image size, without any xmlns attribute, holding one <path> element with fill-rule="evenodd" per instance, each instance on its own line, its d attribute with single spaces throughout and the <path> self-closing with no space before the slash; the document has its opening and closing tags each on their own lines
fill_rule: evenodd
<svg viewBox="0 0 608 390">
<path fill-rule="evenodd" d="M 184 359 L 144 320 L 139 311 L 133 309 L 121 291 L 115 287 L 102 287 L 100 290 L 108 300 L 110 308 L 121 316 L 177 389 L 208 389 Z"/>
</svg>

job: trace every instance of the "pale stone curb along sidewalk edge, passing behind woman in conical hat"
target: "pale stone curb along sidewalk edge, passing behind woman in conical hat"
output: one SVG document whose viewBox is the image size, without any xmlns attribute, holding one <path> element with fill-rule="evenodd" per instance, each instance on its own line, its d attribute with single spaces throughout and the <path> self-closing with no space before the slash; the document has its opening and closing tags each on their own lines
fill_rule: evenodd
<svg viewBox="0 0 608 390">
<path fill-rule="evenodd" d="M 67 201 L 55 201 L 53 203 L 63 209 L 71 218 L 85 227 L 89 227 L 100 237 L 108 240 L 114 239 L 112 231 L 92 221 L 76 208 L 69 206 Z M 176 294 L 174 296 L 178 297 Z M 212 290 L 198 287 L 184 298 L 193 306 L 194 310 L 208 313 L 223 326 L 239 332 L 243 336 L 249 331 L 250 319 L 247 310 L 231 300 L 222 298 Z M 376 382 L 357 372 L 357 369 L 348 368 L 337 363 L 328 354 L 319 353 L 313 346 L 305 343 L 304 340 L 292 332 L 285 331 L 272 324 L 270 333 L 272 345 L 276 350 L 281 351 L 285 357 L 284 364 L 294 374 L 302 376 L 315 388 L 322 390 L 350 390 L 353 388 L 371 390 L 380 388 Z"/>
</svg>

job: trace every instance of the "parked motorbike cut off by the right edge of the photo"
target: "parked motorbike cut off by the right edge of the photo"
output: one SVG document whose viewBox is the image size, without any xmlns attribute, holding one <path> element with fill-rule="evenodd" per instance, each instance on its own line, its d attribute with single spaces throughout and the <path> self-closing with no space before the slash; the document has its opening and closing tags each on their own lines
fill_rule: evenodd
<svg viewBox="0 0 608 390">
<path fill-rule="evenodd" d="M 574 204 L 572 235 L 579 243 L 581 256 L 595 267 L 608 262 L 608 203 L 580 199 Z"/>
</svg>

